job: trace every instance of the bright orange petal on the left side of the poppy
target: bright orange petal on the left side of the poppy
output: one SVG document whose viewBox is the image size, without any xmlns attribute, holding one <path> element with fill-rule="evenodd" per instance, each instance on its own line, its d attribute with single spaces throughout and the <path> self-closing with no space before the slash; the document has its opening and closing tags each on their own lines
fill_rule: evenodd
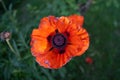
<svg viewBox="0 0 120 80">
<path fill-rule="evenodd" d="M 44 34 L 44 33 L 43 33 Z M 48 47 L 48 42 L 45 37 L 41 34 L 39 29 L 34 29 L 31 34 L 31 52 L 34 56 L 43 54 Z"/>
</svg>

